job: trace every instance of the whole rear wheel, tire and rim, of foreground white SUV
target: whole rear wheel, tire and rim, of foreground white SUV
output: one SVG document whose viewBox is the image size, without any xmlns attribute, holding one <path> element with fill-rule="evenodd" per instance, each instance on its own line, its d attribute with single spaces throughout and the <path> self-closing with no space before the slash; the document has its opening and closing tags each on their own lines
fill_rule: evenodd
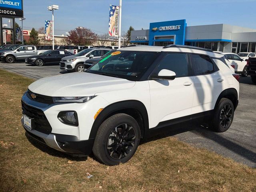
<svg viewBox="0 0 256 192">
<path fill-rule="evenodd" d="M 222 98 L 214 110 L 211 127 L 216 132 L 225 132 L 234 118 L 234 105 L 231 100 Z"/>
</svg>

